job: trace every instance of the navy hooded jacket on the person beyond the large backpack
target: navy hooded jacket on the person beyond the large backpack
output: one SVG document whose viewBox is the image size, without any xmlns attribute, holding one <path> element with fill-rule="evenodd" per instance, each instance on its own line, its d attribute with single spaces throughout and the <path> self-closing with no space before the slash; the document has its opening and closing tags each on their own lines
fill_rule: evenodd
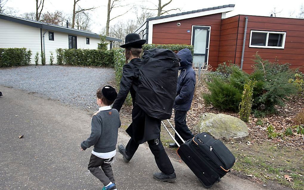
<svg viewBox="0 0 304 190">
<path fill-rule="evenodd" d="M 191 107 L 194 88 L 195 88 L 195 71 L 192 68 L 192 54 L 189 49 L 180 50 L 177 53 L 181 58 L 178 76 L 176 98 L 173 108 L 181 111 L 188 111 Z"/>
</svg>

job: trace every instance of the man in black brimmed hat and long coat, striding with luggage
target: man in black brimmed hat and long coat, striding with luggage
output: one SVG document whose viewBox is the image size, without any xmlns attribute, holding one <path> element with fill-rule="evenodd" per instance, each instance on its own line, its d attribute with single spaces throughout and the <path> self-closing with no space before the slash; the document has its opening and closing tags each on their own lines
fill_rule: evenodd
<svg viewBox="0 0 304 190">
<path fill-rule="evenodd" d="M 140 53 L 142 45 L 146 40 L 141 40 L 136 33 L 126 36 L 126 64 L 123 66 L 123 76 L 120 80 L 120 90 L 112 106 L 113 109 L 120 111 L 123 103 L 130 92 L 133 102 L 132 123 L 126 132 L 131 139 L 126 147 L 123 144 L 118 145 L 119 153 L 123 155 L 123 160 L 129 162 L 135 154 L 140 144 L 147 141 L 149 148 L 154 155 L 156 164 L 161 172 L 154 173 L 153 177 L 159 181 L 175 181 L 176 174 L 172 163 L 160 140 L 161 120 L 148 116 L 136 103 L 135 96 L 138 88 L 139 67 L 142 62 Z M 128 60 L 130 62 L 128 63 Z"/>
</svg>

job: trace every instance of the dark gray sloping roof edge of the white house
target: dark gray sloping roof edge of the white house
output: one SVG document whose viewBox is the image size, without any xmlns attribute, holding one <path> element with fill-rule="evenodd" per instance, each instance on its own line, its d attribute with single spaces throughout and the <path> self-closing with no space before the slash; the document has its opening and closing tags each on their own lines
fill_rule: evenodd
<svg viewBox="0 0 304 190">
<path fill-rule="evenodd" d="M 44 22 L 38 23 L 35 21 L 31 21 L 31 20 L 27 20 L 27 19 L 22 19 L 19 17 L 13 17 L 13 16 L 9 16 L 9 15 L 4 15 L 4 14 L 0 14 L 0 19 L 4 19 L 7 21 L 11 21 L 11 22 L 16 22 L 19 24 L 24 24 L 27 26 L 32 26 L 35 28 L 42 28 L 42 29 L 48 29 L 48 30 L 54 30 L 57 32 L 64 32 L 64 33 L 70 33 L 70 34 L 76 34 L 76 35 L 81 35 L 81 36 L 89 36 L 89 37 L 93 37 L 93 38 L 100 38 L 99 34 L 96 33 L 92 33 L 92 32 L 86 32 L 84 30 L 76 30 L 76 29 L 72 29 L 72 28 L 65 28 L 63 26 L 56 26 L 56 25 L 50 25 Z M 113 38 L 110 36 L 106 36 L 105 38 L 106 40 L 112 40 L 112 41 L 119 41 L 122 42 L 123 40 L 118 39 L 118 38 Z"/>
</svg>

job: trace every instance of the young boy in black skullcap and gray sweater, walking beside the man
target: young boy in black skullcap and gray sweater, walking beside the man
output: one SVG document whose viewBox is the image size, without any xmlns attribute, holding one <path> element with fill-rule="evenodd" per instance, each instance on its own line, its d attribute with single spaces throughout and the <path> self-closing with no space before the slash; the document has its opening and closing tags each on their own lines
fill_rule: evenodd
<svg viewBox="0 0 304 190">
<path fill-rule="evenodd" d="M 92 117 L 91 135 L 81 143 L 81 150 L 94 145 L 88 170 L 103 183 L 102 190 L 117 190 L 111 163 L 116 154 L 118 128 L 121 123 L 118 111 L 110 106 L 116 99 L 117 92 L 112 86 L 105 86 L 99 88 L 96 95 L 100 108 Z"/>
</svg>

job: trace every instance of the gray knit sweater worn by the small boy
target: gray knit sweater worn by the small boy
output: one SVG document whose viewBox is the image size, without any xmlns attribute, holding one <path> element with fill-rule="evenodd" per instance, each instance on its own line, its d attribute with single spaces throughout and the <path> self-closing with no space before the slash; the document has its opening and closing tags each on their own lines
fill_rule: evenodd
<svg viewBox="0 0 304 190">
<path fill-rule="evenodd" d="M 119 113 L 116 109 L 95 113 L 92 117 L 91 135 L 81 143 L 81 148 L 85 150 L 94 145 L 93 150 L 101 153 L 115 150 L 120 125 Z"/>
</svg>

